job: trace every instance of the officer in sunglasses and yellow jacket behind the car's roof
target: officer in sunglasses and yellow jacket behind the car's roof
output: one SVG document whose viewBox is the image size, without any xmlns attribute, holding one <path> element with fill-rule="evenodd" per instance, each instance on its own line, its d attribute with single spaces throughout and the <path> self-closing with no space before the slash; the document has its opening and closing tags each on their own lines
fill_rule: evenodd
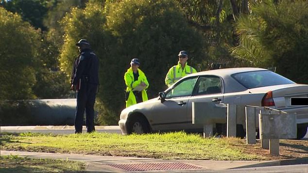
<svg viewBox="0 0 308 173">
<path fill-rule="evenodd" d="M 178 57 L 179 62 L 177 63 L 177 65 L 172 66 L 166 75 L 165 83 L 168 87 L 170 87 L 173 83 L 183 78 L 184 76 L 197 72 L 196 69 L 187 64 L 187 51 L 180 51 Z"/>
</svg>

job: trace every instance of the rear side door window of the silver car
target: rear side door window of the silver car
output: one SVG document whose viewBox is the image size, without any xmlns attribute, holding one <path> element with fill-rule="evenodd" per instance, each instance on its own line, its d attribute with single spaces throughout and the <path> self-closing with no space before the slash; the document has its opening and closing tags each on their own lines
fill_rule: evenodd
<svg viewBox="0 0 308 173">
<path fill-rule="evenodd" d="M 200 77 L 196 88 L 196 95 L 222 93 L 222 80 L 218 77 Z"/>
</svg>

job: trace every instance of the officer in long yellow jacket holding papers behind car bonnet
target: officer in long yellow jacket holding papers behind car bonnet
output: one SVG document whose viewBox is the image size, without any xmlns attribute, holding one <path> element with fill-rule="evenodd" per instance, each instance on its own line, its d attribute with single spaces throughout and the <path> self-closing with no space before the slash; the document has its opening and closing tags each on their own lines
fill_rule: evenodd
<svg viewBox="0 0 308 173">
<path fill-rule="evenodd" d="M 131 61 L 131 67 L 124 74 L 126 84 L 126 108 L 134 104 L 148 100 L 146 89 L 149 82 L 145 74 L 139 69 L 139 59 L 134 58 Z"/>
</svg>

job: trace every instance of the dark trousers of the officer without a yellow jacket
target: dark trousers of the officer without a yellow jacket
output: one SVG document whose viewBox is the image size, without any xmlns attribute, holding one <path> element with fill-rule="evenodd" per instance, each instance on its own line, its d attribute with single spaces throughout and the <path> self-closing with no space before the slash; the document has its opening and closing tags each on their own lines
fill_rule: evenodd
<svg viewBox="0 0 308 173">
<path fill-rule="evenodd" d="M 84 113 L 86 110 L 87 132 L 95 131 L 94 127 L 94 103 L 97 85 L 85 83 L 77 93 L 77 106 L 75 110 L 75 133 L 82 133 Z"/>
</svg>

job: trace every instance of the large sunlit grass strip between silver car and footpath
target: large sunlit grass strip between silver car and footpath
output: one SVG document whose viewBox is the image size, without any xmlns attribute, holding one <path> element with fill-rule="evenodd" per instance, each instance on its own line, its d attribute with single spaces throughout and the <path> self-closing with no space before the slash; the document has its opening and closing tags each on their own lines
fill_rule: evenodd
<svg viewBox="0 0 308 173">
<path fill-rule="evenodd" d="M 119 135 L 110 133 L 52 135 L 1 134 L 2 150 L 154 157 L 163 159 L 259 160 L 244 153 L 238 138 L 203 138 L 184 132 Z"/>
</svg>

